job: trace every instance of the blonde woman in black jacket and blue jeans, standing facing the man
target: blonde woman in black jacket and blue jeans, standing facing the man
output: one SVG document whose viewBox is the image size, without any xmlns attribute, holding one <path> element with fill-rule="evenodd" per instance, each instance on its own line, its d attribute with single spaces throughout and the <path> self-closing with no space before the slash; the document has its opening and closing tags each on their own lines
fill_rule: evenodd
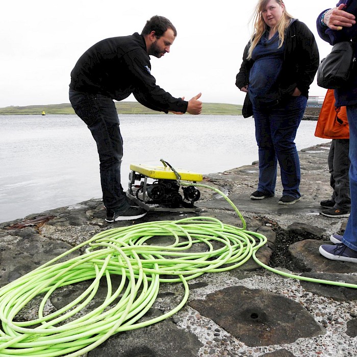
<svg viewBox="0 0 357 357">
<path fill-rule="evenodd" d="M 259 148 L 259 183 L 250 198 L 274 196 L 278 162 L 283 185 L 278 203 L 292 205 L 301 197 L 294 140 L 319 65 L 318 48 L 307 25 L 293 18 L 281 0 L 260 0 L 252 21 L 253 34 L 236 78 L 251 101 Z"/>
</svg>

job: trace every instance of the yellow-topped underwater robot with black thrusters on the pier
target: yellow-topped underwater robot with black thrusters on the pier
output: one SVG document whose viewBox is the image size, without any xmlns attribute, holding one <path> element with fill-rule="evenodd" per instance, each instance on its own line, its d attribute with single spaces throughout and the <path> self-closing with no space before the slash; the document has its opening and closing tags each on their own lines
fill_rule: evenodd
<svg viewBox="0 0 357 357">
<path fill-rule="evenodd" d="M 201 194 L 194 183 L 202 181 L 203 176 L 182 169 L 176 171 L 167 161 L 160 161 L 163 166 L 131 164 L 126 195 L 147 211 L 199 212 L 201 209 L 193 203 Z M 192 185 L 182 187 L 181 180 Z"/>
</svg>

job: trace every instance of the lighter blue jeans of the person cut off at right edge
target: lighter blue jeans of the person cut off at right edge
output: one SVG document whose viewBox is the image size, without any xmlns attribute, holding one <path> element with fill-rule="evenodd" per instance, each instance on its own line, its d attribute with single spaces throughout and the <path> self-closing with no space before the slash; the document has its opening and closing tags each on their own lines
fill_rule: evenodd
<svg viewBox="0 0 357 357">
<path fill-rule="evenodd" d="M 348 217 L 342 243 L 357 250 L 357 105 L 346 106 L 349 124 L 349 190 L 351 214 Z"/>
</svg>

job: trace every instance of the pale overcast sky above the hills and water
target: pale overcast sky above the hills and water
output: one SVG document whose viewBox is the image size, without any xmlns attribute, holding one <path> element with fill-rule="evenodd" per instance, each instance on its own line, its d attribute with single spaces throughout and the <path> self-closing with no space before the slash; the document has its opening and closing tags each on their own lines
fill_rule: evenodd
<svg viewBox="0 0 357 357">
<path fill-rule="evenodd" d="M 316 17 L 335 5 L 323 0 L 285 0 L 289 13 L 315 34 L 320 57 L 330 46 L 316 32 Z M 157 84 L 173 96 L 203 102 L 243 104 L 235 77 L 250 36 L 254 1 L 170 2 L 156 0 L 14 0 L 3 4 L 0 107 L 69 103 L 69 74 L 95 42 L 141 32 L 152 15 L 169 18 L 177 29 L 171 51 L 151 58 Z M 324 95 L 314 81 L 310 95 Z M 130 96 L 129 100 L 135 100 Z"/>
</svg>

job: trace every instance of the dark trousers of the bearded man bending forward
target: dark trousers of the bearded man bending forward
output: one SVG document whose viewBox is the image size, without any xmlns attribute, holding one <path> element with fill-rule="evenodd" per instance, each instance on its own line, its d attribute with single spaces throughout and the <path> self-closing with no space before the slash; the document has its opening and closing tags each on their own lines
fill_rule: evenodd
<svg viewBox="0 0 357 357">
<path fill-rule="evenodd" d="M 69 100 L 88 126 L 97 143 L 103 203 L 107 209 L 125 211 L 130 207 L 120 184 L 123 140 L 114 101 L 100 94 L 69 91 Z"/>
</svg>

